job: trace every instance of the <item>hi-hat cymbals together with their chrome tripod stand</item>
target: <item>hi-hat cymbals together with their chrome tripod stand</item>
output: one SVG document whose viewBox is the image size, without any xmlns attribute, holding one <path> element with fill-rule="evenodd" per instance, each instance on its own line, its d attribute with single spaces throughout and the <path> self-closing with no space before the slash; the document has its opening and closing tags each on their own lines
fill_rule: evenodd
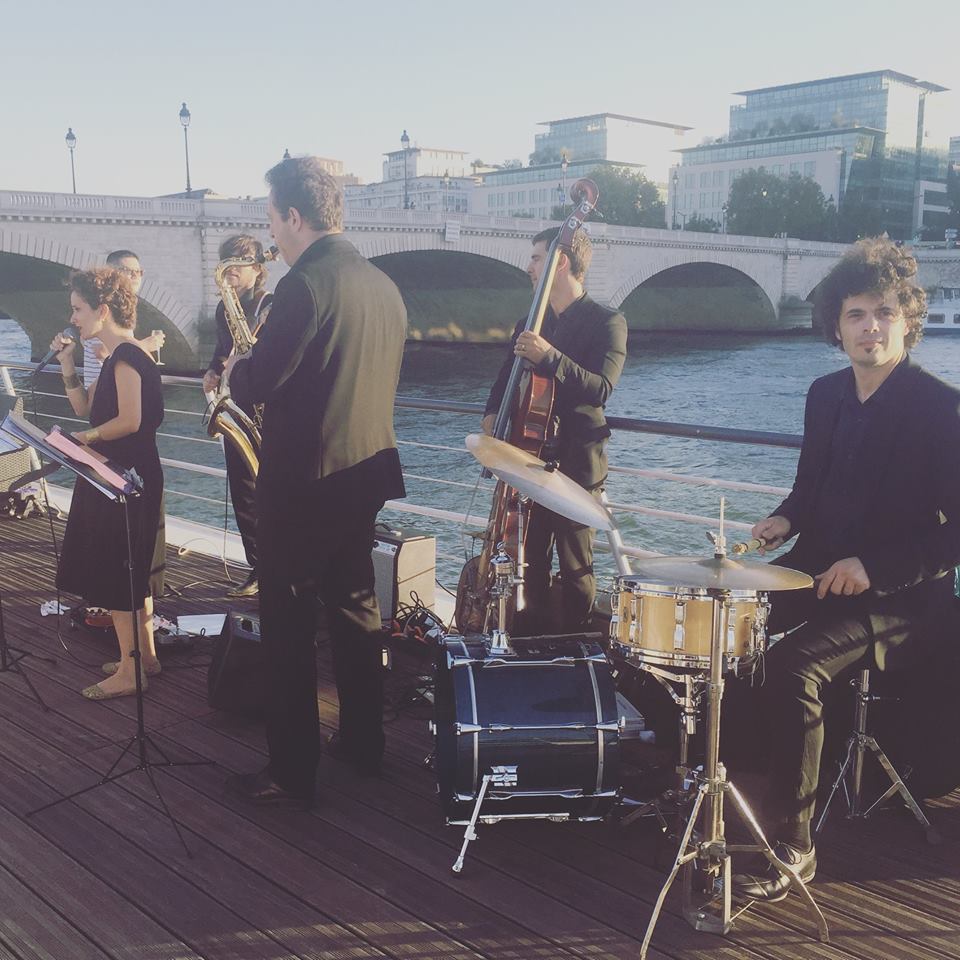
<svg viewBox="0 0 960 960">
<path fill-rule="evenodd" d="M 682 912 L 687 922 L 696 930 L 725 934 L 730 930 L 735 917 L 731 905 L 731 853 L 762 853 L 767 861 L 783 876 L 804 898 L 813 915 L 818 938 L 829 942 L 830 935 L 823 913 L 814 901 L 806 885 L 800 881 L 795 869 L 777 859 L 770 843 L 763 834 L 753 811 L 740 791 L 727 777 L 725 766 L 720 762 L 720 707 L 723 698 L 723 607 L 731 599 L 733 590 L 774 589 L 770 583 L 778 579 L 781 585 L 776 589 L 802 589 L 810 587 L 813 580 L 806 574 L 786 568 L 776 568 L 777 577 L 755 571 L 763 564 L 748 561 L 731 561 L 726 557 L 723 536 L 724 501 L 720 501 L 720 532 L 711 539 L 714 542 L 714 556 L 709 561 L 691 561 L 690 558 L 654 559 L 643 561 L 641 575 L 652 576 L 651 568 L 676 570 L 686 566 L 691 571 L 700 571 L 703 579 L 698 585 L 707 590 L 712 600 L 712 632 L 710 648 L 710 671 L 705 683 L 707 696 L 706 714 L 706 756 L 702 770 L 691 771 L 691 785 L 696 793 L 690 815 L 687 820 L 680 847 L 673 867 L 667 876 L 657 901 L 640 948 L 640 960 L 644 960 L 650 946 L 654 928 L 663 908 L 667 893 L 677 875 L 683 871 Z M 733 564 L 731 567 L 730 564 Z M 751 577 L 751 574 L 755 576 Z M 785 575 L 784 575 L 785 574 Z M 724 835 L 723 801 L 729 796 L 740 819 L 750 832 L 753 843 L 731 844 Z M 703 825 L 696 831 L 697 823 L 703 813 Z M 698 897 L 697 894 L 700 894 Z M 747 904 L 749 906 L 749 904 Z M 746 909 L 746 907 L 744 907 Z M 737 912 L 737 916 L 742 910 Z"/>
</svg>

